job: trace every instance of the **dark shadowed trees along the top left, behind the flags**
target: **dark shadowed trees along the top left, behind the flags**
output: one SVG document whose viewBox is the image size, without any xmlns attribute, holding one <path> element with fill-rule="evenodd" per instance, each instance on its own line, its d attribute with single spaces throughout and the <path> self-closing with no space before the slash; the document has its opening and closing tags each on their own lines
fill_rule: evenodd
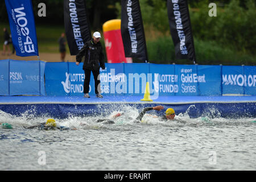
<svg viewBox="0 0 256 182">
<path fill-rule="evenodd" d="M 113 6 L 118 0 L 84 0 L 87 7 L 87 13 L 91 27 L 95 30 L 101 30 L 102 24 L 106 20 L 117 17 L 116 9 Z M 36 24 L 46 25 L 64 25 L 63 0 L 32 0 Z M 46 17 L 38 16 L 38 4 L 46 4 Z M 8 16 L 5 1 L 0 1 L 0 21 L 8 22 Z"/>
</svg>

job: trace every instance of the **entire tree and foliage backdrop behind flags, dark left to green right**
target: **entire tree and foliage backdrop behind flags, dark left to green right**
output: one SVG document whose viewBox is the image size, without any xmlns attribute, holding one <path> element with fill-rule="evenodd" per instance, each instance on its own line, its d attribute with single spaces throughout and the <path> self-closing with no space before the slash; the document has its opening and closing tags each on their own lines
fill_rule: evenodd
<svg viewBox="0 0 256 182">
<path fill-rule="evenodd" d="M 37 15 L 38 4 L 41 2 L 46 4 L 46 17 Z M 120 0 L 86 0 L 85 2 L 92 31 L 102 31 L 104 22 L 121 17 Z M 166 0 L 139 0 L 139 2 L 150 62 L 191 64 L 189 60 L 175 60 Z M 208 15 L 210 2 L 217 4 L 216 17 Z M 255 1 L 188 0 L 188 4 L 198 64 L 256 65 Z M 39 51 L 47 51 L 41 45 L 47 47 L 48 44 L 48 47 L 51 47 L 52 44 L 56 44 L 56 39 L 53 38 L 64 31 L 63 0 L 32 0 L 32 5 Z M 0 14 L 2 28 L 3 24 L 8 24 L 5 1 L 0 1 Z M 49 36 L 51 34 L 53 36 Z M 2 44 L 2 39 L 0 43 Z"/>
</svg>

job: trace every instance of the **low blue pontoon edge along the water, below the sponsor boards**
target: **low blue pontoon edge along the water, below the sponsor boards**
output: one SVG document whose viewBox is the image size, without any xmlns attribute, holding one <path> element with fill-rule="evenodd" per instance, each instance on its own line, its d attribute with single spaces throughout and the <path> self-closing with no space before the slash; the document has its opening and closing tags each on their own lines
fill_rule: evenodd
<svg viewBox="0 0 256 182">
<path fill-rule="evenodd" d="M 198 117 L 256 117 L 256 96 L 159 96 L 152 102 L 143 102 L 141 96 L 104 96 L 84 98 L 81 96 L 20 96 L 0 97 L 0 111 L 16 116 L 33 117 L 88 117 L 108 116 L 113 111 L 125 111 L 126 106 L 142 111 L 144 107 L 164 106 L 156 115 L 163 115 L 169 107 L 176 115 L 187 113 L 191 118 Z"/>
</svg>

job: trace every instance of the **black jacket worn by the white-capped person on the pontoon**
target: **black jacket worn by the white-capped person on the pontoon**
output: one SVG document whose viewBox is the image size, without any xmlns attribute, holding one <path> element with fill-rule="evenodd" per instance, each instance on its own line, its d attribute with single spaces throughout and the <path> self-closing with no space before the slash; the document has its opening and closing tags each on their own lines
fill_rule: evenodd
<svg viewBox="0 0 256 182">
<path fill-rule="evenodd" d="M 100 42 L 95 44 L 93 39 L 86 42 L 84 47 L 77 53 L 76 61 L 81 63 L 83 56 L 85 56 L 85 59 L 82 69 L 98 70 L 100 67 L 105 69 L 104 54 L 102 53 Z"/>
</svg>

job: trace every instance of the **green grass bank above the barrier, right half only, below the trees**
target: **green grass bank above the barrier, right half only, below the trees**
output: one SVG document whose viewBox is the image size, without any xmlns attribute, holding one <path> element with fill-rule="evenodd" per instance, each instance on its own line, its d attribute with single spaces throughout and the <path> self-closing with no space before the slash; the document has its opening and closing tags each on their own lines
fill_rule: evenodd
<svg viewBox="0 0 256 182">
<path fill-rule="evenodd" d="M 232 46 L 222 47 L 214 41 L 194 38 L 197 64 L 209 65 L 256 65 L 256 57 L 237 52 Z M 147 52 L 151 63 L 192 64 L 190 60 L 175 60 L 175 49 L 171 36 L 147 40 Z"/>
</svg>

